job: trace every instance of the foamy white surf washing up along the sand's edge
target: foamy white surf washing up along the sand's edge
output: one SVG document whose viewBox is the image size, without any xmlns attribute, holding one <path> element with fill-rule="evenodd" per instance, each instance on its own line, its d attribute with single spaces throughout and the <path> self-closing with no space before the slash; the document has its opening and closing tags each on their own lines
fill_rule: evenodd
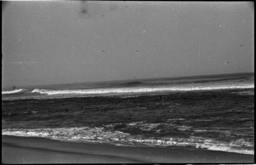
<svg viewBox="0 0 256 165">
<path fill-rule="evenodd" d="M 135 123 L 134 123 L 135 124 Z M 147 137 L 131 135 L 121 131 L 109 131 L 104 127 L 72 127 L 72 128 L 44 128 L 44 129 L 3 129 L 2 135 L 46 137 L 57 140 L 74 140 L 99 143 L 113 143 L 117 145 L 146 145 L 146 146 L 172 146 L 192 147 L 207 150 L 254 154 L 254 147 L 244 139 L 237 139 L 230 143 L 218 142 L 210 138 L 190 136 L 179 137 Z"/>
</svg>

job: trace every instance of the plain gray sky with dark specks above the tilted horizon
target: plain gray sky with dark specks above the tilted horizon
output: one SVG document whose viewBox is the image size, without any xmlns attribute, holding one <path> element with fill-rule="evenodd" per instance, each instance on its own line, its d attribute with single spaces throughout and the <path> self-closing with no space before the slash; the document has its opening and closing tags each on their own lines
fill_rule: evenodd
<svg viewBox="0 0 256 165">
<path fill-rule="evenodd" d="M 248 2 L 8 2 L 2 87 L 254 72 Z"/>
</svg>

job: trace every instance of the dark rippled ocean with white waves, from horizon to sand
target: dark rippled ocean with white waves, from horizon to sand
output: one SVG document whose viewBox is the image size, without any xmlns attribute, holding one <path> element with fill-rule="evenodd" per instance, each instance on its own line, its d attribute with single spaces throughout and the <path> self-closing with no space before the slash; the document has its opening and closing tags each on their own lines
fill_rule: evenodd
<svg viewBox="0 0 256 165">
<path fill-rule="evenodd" d="M 254 73 L 6 88 L 2 135 L 254 154 Z"/>
</svg>

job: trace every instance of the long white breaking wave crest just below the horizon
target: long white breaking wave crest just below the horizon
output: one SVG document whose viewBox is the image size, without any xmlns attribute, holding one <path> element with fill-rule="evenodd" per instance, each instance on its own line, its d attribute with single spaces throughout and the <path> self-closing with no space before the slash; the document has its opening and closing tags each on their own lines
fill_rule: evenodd
<svg viewBox="0 0 256 165">
<path fill-rule="evenodd" d="M 96 88 L 96 89 L 65 89 L 65 90 L 47 90 L 34 89 L 31 92 L 37 92 L 47 95 L 64 94 L 114 94 L 114 93 L 143 93 L 143 92 L 161 92 L 161 91 L 194 91 L 194 90 L 217 90 L 217 89 L 239 89 L 254 88 L 254 84 L 235 84 L 235 85 L 211 85 L 211 86 L 183 86 L 183 87 L 126 87 L 126 88 Z M 3 93 L 3 92 L 2 92 Z"/>
</svg>

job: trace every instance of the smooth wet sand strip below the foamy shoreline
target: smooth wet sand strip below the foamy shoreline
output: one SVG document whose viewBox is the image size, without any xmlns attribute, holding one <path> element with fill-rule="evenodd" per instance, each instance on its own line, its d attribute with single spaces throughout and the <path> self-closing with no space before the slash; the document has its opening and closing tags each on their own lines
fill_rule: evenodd
<svg viewBox="0 0 256 165">
<path fill-rule="evenodd" d="M 2 136 L 2 163 L 252 163 L 254 155 Z"/>
</svg>

